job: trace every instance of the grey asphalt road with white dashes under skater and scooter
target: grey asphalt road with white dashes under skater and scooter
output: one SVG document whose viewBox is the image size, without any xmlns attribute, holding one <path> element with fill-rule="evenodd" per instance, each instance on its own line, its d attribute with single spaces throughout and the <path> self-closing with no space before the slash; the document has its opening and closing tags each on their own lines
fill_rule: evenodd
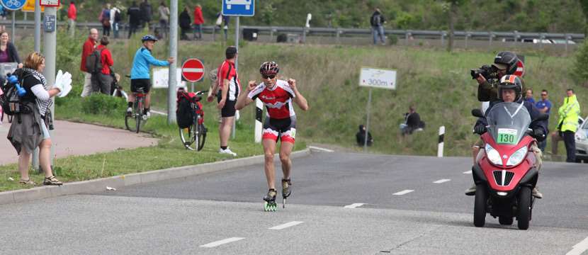
<svg viewBox="0 0 588 255">
<path fill-rule="evenodd" d="M 277 212 L 261 209 L 261 164 L 3 205 L 0 254 L 577 255 L 588 248 L 585 164 L 545 163 L 545 198 L 526 231 L 490 216 L 486 227 L 473 227 L 473 197 L 463 195 L 472 183 L 463 173 L 469 158 L 315 152 L 293 164 L 293 195 Z"/>
</svg>

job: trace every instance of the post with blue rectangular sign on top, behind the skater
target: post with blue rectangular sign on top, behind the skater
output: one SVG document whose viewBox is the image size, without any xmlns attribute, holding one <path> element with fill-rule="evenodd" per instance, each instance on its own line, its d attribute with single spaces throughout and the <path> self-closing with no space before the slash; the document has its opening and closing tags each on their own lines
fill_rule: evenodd
<svg viewBox="0 0 588 255">
<path fill-rule="evenodd" d="M 254 16 L 255 15 L 255 0 L 222 0 L 222 15 L 223 16 L 237 16 L 234 28 L 234 47 L 237 47 L 239 52 L 239 16 Z M 239 68 L 239 60 L 234 60 L 234 69 Z M 242 93 L 242 91 L 240 91 Z M 239 116 L 239 111 L 235 113 L 235 118 Z M 231 138 L 234 139 L 236 121 L 233 122 Z"/>
</svg>

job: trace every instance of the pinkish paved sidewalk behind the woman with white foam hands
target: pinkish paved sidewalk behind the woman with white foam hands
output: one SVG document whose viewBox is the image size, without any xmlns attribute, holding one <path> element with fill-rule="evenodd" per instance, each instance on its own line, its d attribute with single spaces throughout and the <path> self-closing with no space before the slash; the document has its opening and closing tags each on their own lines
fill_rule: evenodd
<svg viewBox="0 0 588 255">
<path fill-rule="evenodd" d="M 6 120 L 6 118 L 4 119 Z M 56 120 L 51 140 L 57 158 L 70 155 L 89 155 L 111 152 L 115 149 L 131 149 L 157 145 L 157 139 L 147 134 L 128 130 L 105 128 L 98 125 Z M 18 162 L 16 150 L 6 139 L 10 123 L 0 125 L 0 165 Z"/>
</svg>

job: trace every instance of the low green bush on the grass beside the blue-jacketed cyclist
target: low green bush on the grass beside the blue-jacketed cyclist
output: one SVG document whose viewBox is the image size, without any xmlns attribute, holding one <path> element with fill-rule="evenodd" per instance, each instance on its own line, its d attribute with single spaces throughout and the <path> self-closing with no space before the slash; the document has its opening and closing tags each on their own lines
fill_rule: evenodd
<svg viewBox="0 0 588 255">
<path fill-rule="evenodd" d="M 123 115 L 125 99 L 105 94 L 92 94 L 81 98 L 81 111 L 89 114 Z"/>
</svg>

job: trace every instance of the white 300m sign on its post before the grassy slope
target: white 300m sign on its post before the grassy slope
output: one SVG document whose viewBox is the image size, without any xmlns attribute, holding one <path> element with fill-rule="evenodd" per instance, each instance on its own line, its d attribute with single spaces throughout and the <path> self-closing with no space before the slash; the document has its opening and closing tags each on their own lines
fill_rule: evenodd
<svg viewBox="0 0 588 255">
<path fill-rule="evenodd" d="M 368 151 L 368 134 L 370 131 L 370 106 L 372 101 L 372 88 L 396 89 L 396 71 L 390 69 L 375 69 L 362 67 L 359 75 L 359 86 L 370 87 L 368 105 L 366 106 L 366 138 L 363 140 L 363 152 Z"/>
</svg>

